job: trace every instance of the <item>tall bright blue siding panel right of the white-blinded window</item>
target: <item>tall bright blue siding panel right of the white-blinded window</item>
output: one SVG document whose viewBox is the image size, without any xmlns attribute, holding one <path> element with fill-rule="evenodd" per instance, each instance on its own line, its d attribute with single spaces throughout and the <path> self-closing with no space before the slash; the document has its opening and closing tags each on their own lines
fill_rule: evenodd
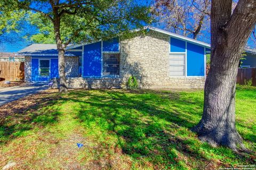
<svg viewBox="0 0 256 170">
<path fill-rule="evenodd" d="M 187 43 L 187 75 L 204 76 L 204 47 Z"/>
</svg>

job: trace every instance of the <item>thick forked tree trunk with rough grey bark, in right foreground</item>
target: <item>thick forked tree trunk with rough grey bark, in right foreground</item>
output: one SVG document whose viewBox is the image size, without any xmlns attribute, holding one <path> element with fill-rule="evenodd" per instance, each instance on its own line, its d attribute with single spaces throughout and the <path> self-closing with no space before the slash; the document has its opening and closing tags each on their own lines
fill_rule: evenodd
<svg viewBox="0 0 256 170">
<path fill-rule="evenodd" d="M 246 150 L 235 126 L 237 65 L 256 22 L 256 1 L 239 1 L 231 15 L 231 0 L 213 0 L 211 66 L 205 81 L 201 121 L 192 129 L 212 146 Z"/>
</svg>

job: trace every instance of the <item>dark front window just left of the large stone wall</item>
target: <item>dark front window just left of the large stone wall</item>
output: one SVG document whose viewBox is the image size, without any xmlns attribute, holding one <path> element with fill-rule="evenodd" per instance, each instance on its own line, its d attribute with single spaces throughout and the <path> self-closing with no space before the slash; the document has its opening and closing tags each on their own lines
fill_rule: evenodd
<svg viewBox="0 0 256 170">
<path fill-rule="evenodd" d="M 119 75 L 119 54 L 103 54 L 103 75 Z"/>
</svg>

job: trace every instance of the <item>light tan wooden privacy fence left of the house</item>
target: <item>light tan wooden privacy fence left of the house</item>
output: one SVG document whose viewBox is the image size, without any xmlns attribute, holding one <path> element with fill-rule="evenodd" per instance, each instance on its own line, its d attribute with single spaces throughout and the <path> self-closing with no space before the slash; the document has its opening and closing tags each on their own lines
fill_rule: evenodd
<svg viewBox="0 0 256 170">
<path fill-rule="evenodd" d="M 24 62 L 0 62 L 2 80 L 24 80 Z"/>
</svg>

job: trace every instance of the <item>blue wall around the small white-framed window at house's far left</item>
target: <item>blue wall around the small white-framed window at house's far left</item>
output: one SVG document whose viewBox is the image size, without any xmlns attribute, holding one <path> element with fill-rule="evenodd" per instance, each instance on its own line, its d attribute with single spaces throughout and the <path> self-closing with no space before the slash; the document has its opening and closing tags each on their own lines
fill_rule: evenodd
<svg viewBox="0 0 256 170">
<path fill-rule="evenodd" d="M 49 57 L 49 56 L 48 56 Z M 43 57 L 46 58 L 46 57 Z M 58 58 L 51 58 L 51 70 L 50 78 L 41 78 L 39 77 L 39 59 L 31 58 L 31 81 L 49 81 L 52 78 L 58 78 Z"/>
</svg>

